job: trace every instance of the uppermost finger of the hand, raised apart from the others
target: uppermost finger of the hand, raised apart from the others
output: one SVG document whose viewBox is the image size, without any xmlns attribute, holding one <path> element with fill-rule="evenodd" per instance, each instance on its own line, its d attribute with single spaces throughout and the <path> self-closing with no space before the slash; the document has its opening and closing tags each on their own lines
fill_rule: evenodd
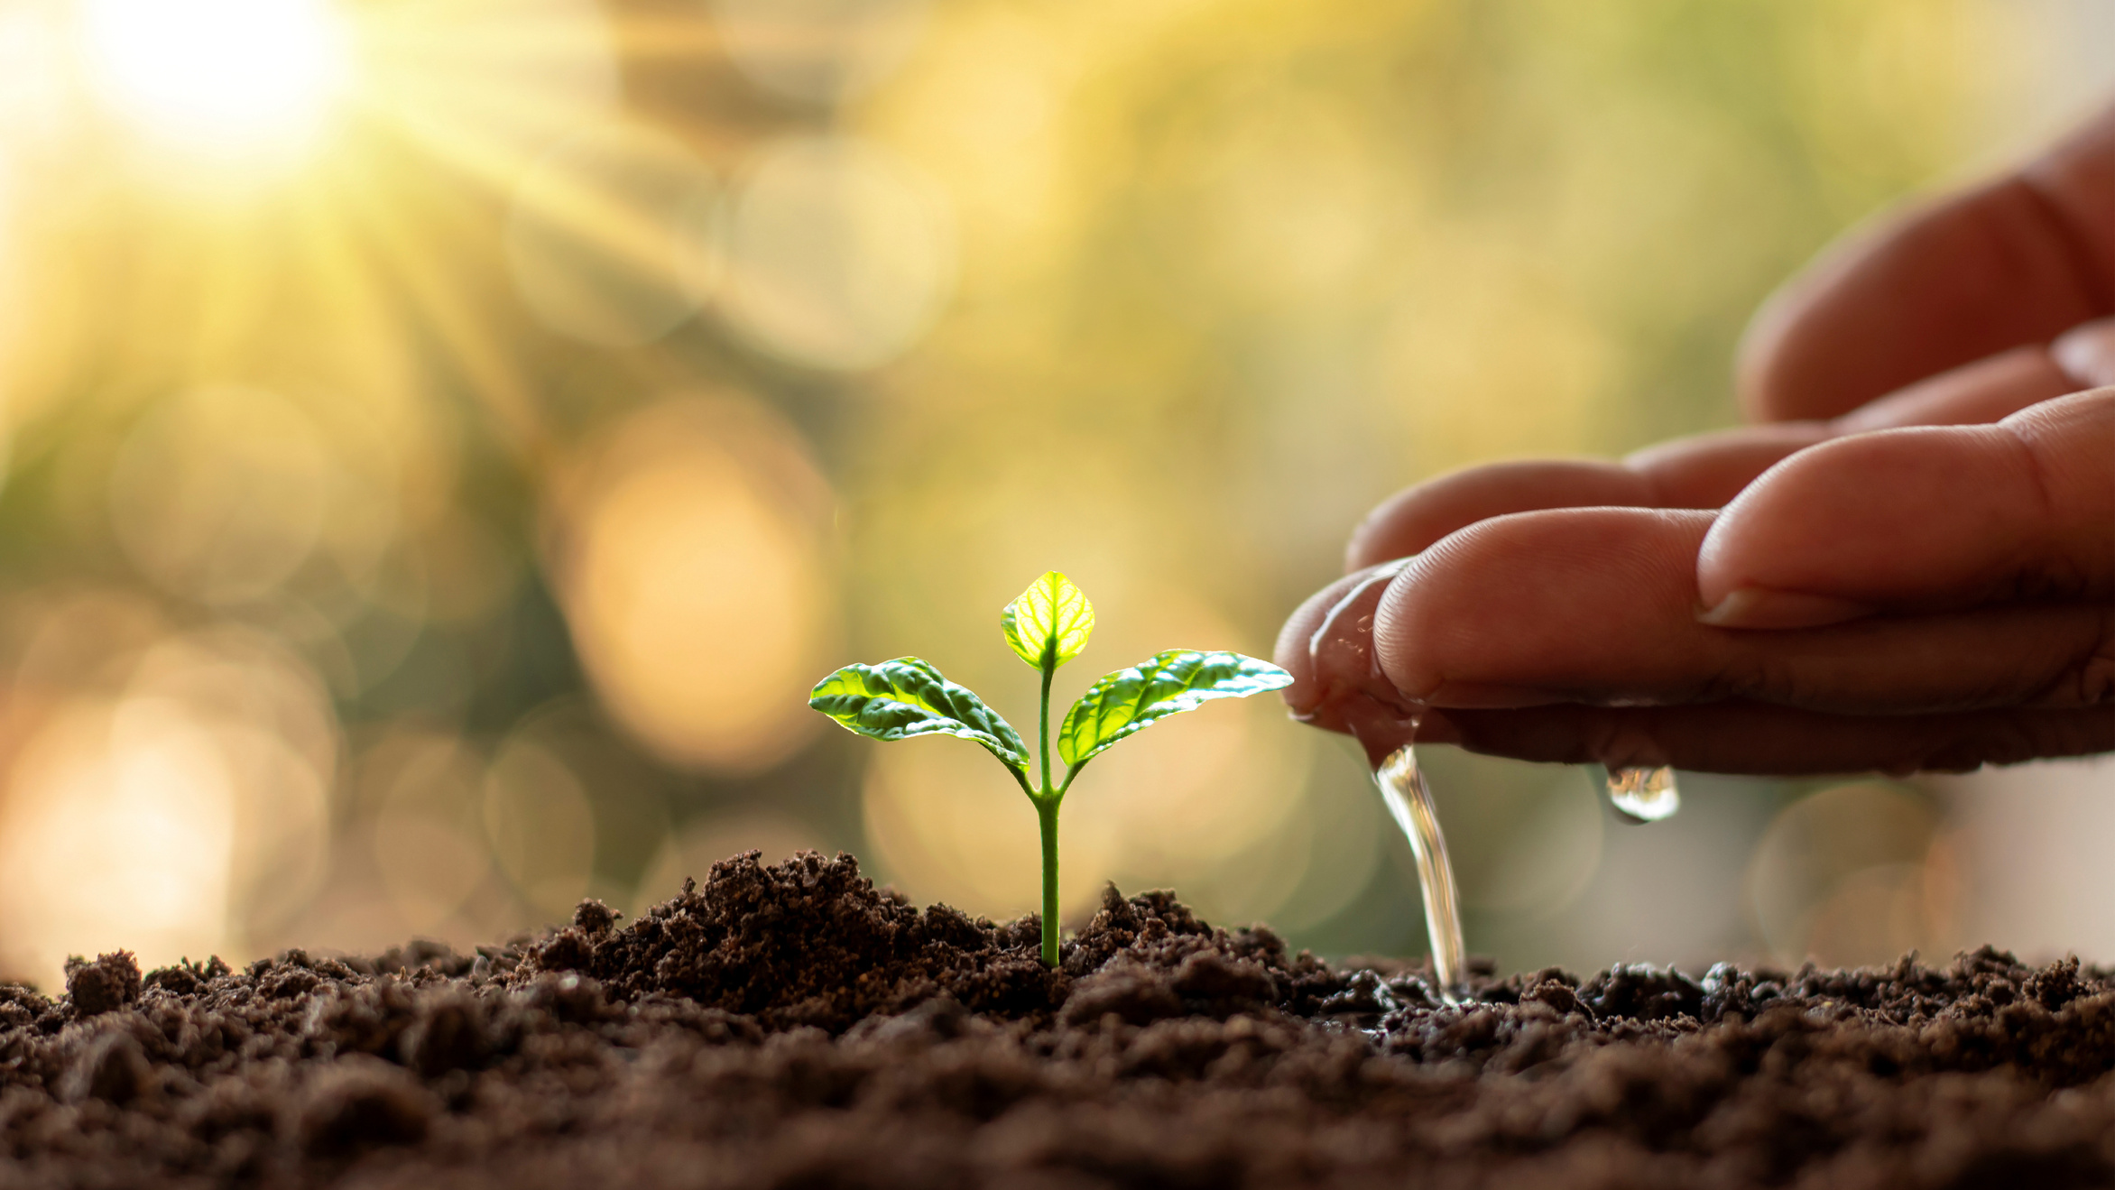
<svg viewBox="0 0 2115 1190">
<path fill-rule="evenodd" d="M 1827 252 L 1755 315 L 1758 421 L 1825 419 L 2115 313 L 2115 108 L 2018 173 Z"/>
</svg>

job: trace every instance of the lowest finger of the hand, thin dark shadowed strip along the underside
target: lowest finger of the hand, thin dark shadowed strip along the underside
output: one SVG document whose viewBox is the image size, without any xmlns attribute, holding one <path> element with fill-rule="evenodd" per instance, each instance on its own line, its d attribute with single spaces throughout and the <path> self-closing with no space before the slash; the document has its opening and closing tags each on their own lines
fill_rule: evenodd
<svg viewBox="0 0 2115 1190">
<path fill-rule="evenodd" d="M 1550 763 L 1908 776 L 2109 752 L 2115 750 L 2115 708 L 1859 717 L 1724 702 L 1637 708 L 1563 704 L 1449 710 L 1428 717 L 1419 740 Z"/>
</svg>

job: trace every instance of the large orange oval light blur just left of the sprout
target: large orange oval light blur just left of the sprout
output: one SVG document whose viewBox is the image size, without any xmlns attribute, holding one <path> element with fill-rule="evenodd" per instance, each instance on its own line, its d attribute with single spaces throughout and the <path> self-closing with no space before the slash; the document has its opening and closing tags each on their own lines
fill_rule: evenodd
<svg viewBox="0 0 2115 1190">
<path fill-rule="evenodd" d="M 558 588 L 603 706 L 664 759 L 753 774 L 816 727 L 833 497 L 770 410 L 632 414 L 556 499 Z"/>
</svg>

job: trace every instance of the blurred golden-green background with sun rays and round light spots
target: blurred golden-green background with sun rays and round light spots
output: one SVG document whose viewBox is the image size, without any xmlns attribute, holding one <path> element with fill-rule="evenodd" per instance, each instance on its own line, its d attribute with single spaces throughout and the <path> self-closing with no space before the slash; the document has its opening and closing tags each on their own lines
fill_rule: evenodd
<svg viewBox="0 0 2115 1190">
<path fill-rule="evenodd" d="M 2098 23 L 2096 23 L 2098 21 Z M 804 706 L 998 609 L 1269 655 L 1390 490 L 1730 423 L 1755 302 L 2081 110 L 2092 4 L 0 0 L 0 977 L 457 945 L 761 848 L 1036 896 L 979 750 Z M 2090 38 L 2083 44 L 2094 44 Z M 1070 678 L 1066 685 L 1064 678 Z M 1470 945 L 1961 941 L 1925 788 L 1432 757 Z M 1064 894 L 1421 953 L 1271 700 L 1066 805 Z"/>
</svg>

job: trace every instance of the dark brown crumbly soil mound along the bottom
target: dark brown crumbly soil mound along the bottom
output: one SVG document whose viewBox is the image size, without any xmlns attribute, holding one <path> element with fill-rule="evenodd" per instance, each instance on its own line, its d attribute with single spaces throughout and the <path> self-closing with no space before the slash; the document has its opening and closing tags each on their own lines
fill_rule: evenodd
<svg viewBox="0 0 2115 1190">
<path fill-rule="evenodd" d="M 0 1186 L 2102 1186 L 2115 979 L 1339 970 L 1115 890 L 916 909 L 848 856 L 620 924 L 0 985 Z"/>
</svg>

